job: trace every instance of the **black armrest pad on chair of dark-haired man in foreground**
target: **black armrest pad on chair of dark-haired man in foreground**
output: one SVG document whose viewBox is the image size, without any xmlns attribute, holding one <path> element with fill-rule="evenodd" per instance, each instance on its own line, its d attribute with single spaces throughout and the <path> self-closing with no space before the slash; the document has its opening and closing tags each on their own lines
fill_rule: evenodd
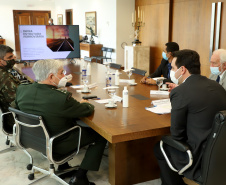
<svg viewBox="0 0 226 185">
<path fill-rule="evenodd" d="M 162 137 L 163 143 L 166 143 L 167 145 L 181 151 L 181 152 L 186 152 L 190 150 L 189 145 L 187 143 L 177 141 L 172 138 L 172 136 L 163 136 Z"/>
</svg>

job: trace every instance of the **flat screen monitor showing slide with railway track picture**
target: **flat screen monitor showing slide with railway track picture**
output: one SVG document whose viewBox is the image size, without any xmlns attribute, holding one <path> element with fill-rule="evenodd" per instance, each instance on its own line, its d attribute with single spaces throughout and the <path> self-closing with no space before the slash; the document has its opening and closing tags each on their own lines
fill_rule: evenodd
<svg viewBox="0 0 226 185">
<path fill-rule="evenodd" d="M 80 58 L 78 25 L 19 25 L 21 60 Z"/>
</svg>

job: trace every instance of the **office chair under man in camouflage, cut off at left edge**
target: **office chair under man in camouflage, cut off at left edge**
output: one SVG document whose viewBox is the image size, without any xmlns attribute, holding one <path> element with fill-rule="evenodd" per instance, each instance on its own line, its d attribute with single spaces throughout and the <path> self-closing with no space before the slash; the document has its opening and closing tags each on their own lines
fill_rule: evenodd
<svg viewBox="0 0 226 185">
<path fill-rule="evenodd" d="M 2 121 L 2 132 L 6 135 L 6 145 L 9 145 L 9 148 L 0 151 L 0 154 L 6 153 L 9 151 L 14 151 L 17 149 L 13 142 L 13 124 L 14 119 L 11 112 L 4 112 L 3 109 L 0 107 L 2 112 L 1 114 L 1 121 Z M 15 129 L 15 128 L 14 128 Z"/>
</svg>

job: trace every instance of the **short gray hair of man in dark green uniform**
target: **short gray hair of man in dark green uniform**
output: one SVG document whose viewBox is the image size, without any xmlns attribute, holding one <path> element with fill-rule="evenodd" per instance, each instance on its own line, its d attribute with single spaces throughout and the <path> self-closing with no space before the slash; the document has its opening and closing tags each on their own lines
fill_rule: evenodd
<svg viewBox="0 0 226 185">
<path fill-rule="evenodd" d="M 57 74 L 60 68 L 62 68 L 63 62 L 60 60 L 47 59 L 38 60 L 32 67 L 37 82 L 46 80 L 50 73 Z"/>
</svg>

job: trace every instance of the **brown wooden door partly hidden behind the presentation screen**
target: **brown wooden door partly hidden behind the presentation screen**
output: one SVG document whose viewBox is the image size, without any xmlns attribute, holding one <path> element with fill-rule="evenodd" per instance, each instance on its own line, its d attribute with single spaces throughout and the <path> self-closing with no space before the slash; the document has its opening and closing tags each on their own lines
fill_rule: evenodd
<svg viewBox="0 0 226 185">
<path fill-rule="evenodd" d="M 20 59 L 18 25 L 48 25 L 50 11 L 13 10 L 16 56 Z"/>
</svg>

